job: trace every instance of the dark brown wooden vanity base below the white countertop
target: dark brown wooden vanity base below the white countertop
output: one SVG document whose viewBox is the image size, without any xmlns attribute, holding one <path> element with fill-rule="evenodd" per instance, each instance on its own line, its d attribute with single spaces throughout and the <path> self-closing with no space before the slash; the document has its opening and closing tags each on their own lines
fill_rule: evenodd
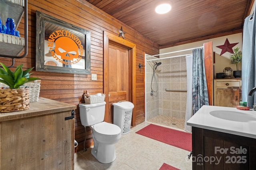
<svg viewBox="0 0 256 170">
<path fill-rule="evenodd" d="M 192 127 L 192 154 L 193 170 L 256 169 L 256 139 L 250 137 Z"/>
</svg>

